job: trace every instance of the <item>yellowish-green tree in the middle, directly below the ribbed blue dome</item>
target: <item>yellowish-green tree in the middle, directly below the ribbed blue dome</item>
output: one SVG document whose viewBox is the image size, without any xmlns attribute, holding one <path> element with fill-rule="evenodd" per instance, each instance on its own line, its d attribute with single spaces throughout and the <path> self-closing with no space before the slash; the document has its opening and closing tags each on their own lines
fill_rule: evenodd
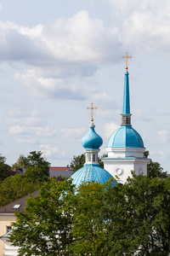
<svg viewBox="0 0 170 256">
<path fill-rule="evenodd" d="M 72 228 L 73 255 L 108 255 L 105 229 L 108 219 L 102 211 L 105 206 L 104 199 L 105 184 L 92 182 L 79 186 Z"/>
</svg>

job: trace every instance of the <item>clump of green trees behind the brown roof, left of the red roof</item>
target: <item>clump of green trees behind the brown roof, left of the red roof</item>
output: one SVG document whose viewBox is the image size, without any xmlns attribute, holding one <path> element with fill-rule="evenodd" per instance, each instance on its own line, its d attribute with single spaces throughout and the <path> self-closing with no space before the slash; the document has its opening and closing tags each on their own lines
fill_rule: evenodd
<svg viewBox="0 0 170 256">
<path fill-rule="evenodd" d="M 0 181 L 0 207 L 19 199 L 29 193 L 39 189 L 44 182 L 49 181 L 49 163 L 42 158 L 42 152 L 33 151 L 27 157 L 20 155 L 15 167 L 25 167 L 25 174 L 15 174 L 13 177 L 7 177 L 6 172 L 9 168 L 5 164 L 5 158 L 0 156 L 0 177 L 6 177 Z M 1 172 L 1 167 L 5 170 L 5 175 Z M 9 171 L 8 171 L 9 172 Z M 9 172 L 10 175 L 13 172 Z M 8 175 L 9 176 L 9 175 Z"/>
</svg>

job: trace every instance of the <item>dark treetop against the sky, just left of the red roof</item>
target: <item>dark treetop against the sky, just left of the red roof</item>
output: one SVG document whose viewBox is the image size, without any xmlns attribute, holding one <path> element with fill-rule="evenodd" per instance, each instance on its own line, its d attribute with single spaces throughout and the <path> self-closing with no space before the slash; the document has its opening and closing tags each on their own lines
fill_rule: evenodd
<svg viewBox="0 0 170 256">
<path fill-rule="evenodd" d="M 44 175 L 49 177 L 50 163 L 42 157 L 41 151 L 32 151 L 27 157 L 20 154 L 20 157 L 17 162 L 14 163 L 13 168 L 27 168 L 31 166 L 41 168 Z"/>
</svg>

